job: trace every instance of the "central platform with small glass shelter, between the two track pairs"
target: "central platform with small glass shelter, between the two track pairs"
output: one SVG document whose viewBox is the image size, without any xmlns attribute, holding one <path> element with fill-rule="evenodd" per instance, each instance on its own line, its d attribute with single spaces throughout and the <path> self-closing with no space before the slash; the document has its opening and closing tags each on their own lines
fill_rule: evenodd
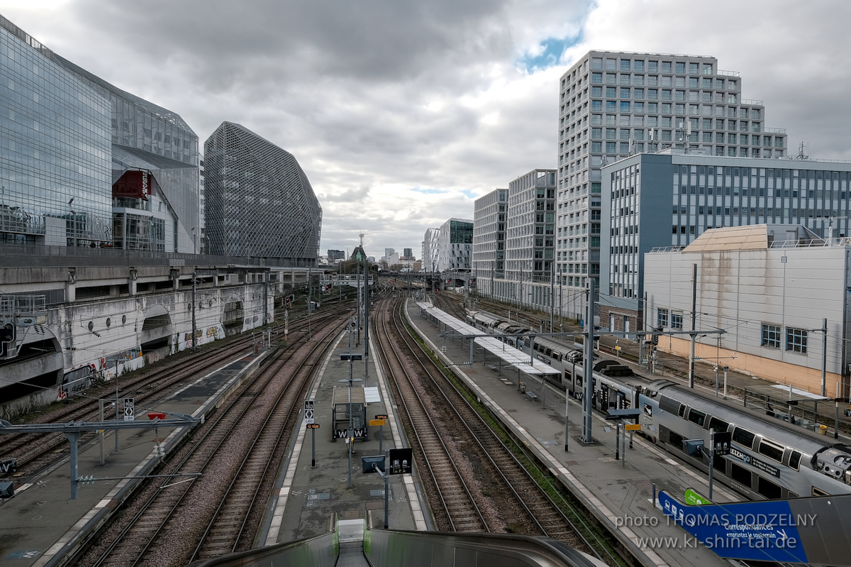
<svg viewBox="0 0 851 567">
<path fill-rule="evenodd" d="M 390 395 L 380 365 L 374 363 L 374 348 L 370 346 L 368 363 L 350 363 L 340 355 L 363 354 L 363 345 L 350 349 L 346 340 L 344 333 L 319 369 L 309 397 L 319 428 L 308 430 L 303 424 L 294 436 L 293 448 L 277 478 L 275 497 L 267 506 L 270 513 L 258 546 L 327 534 L 334 530 L 335 519 L 363 519 L 368 527 L 384 527 L 384 481 L 374 472 L 363 472 L 362 458 L 408 444 L 397 423 L 394 404 L 387 403 Z M 365 364 L 369 364 L 368 373 Z M 385 426 L 369 426 L 367 438 L 352 444 L 351 477 L 349 444 L 345 438 L 334 438 L 332 422 L 334 388 L 345 391 L 350 376 L 354 387 L 365 387 L 367 420 L 387 416 Z M 426 507 L 420 504 L 416 474 L 414 469 L 414 474 L 390 477 L 387 523 L 391 530 L 433 529 Z"/>
</svg>

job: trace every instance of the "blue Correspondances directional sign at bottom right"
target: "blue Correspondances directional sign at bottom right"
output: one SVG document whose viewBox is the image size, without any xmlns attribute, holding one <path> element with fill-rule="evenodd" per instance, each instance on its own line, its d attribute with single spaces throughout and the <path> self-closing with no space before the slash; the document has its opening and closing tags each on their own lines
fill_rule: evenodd
<svg viewBox="0 0 851 567">
<path fill-rule="evenodd" d="M 677 525 L 719 557 L 807 563 L 797 527 L 814 518 L 793 515 L 789 501 L 687 506 L 660 491 L 659 503 Z"/>
</svg>

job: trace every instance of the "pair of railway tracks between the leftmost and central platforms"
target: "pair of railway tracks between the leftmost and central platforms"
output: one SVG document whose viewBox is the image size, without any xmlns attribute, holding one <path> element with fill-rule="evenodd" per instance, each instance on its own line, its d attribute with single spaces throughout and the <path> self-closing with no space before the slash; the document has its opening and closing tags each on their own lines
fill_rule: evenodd
<svg viewBox="0 0 851 567">
<path fill-rule="evenodd" d="M 316 329 L 298 350 L 279 352 L 161 472 L 201 477 L 149 484 L 74 564 L 187 564 L 252 547 L 300 401 L 344 320 Z"/>
</svg>

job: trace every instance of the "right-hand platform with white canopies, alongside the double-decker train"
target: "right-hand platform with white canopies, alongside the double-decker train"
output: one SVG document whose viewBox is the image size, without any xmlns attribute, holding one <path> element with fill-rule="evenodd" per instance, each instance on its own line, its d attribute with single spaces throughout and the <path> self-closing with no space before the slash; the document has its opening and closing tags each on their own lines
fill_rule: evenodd
<svg viewBox="0 0 851 567">
<path fill-rule="evenodd" d="M 605 421 L 597 412 L 592 426 L 592 437 L 597 443 L 580 444 L 582 409 L 574 400 L 568 411 L 570 435 L 568 452 L 565 452 L 563 392 L 544 386 L 540 379 L 521 375 L 519 380 L 529 381 L 529 387 L 539 392 L 537 398 L 531 398 L 522 392 L 514 369 L 500 372 L 493 364 L 483 362 L 481 352 L 476 353 L 470 364 L 468 341 L 441 336 L 441 329 L 420 314 L 420 306 L 414 301 L 408 301 L 406 310 L 420 335 L 454 366 L 483 404 L 500 416 L 505 426 L 538 455 L 600 523 L 608 526 L 620 544 L 641 564 L 728 565 L 711 550 L 695 545 L 684 530 L 669 524 L 665 515 L 653 505 L 654 483 L 657 490 L 680 495 L 682 499 L 687 489 L 708 494 L 705 475 L 639 436 L 633 438 L 633 448 L 625 451 L 625 462 L 616 461 L 614 424 Z M 722 484 L 714 484 L 713 501 L 739 500 L 738 495 Z"/>
</svg>

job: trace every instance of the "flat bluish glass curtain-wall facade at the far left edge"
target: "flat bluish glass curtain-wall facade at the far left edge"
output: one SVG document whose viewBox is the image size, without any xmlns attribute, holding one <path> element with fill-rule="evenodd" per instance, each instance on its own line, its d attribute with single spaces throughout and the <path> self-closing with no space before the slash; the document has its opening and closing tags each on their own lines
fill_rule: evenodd
<svg viewBox="0 0 851 567">
<path fill-rule="evenodd" d="M 0 16 L 0 242 L 112 242 L 110 103 Z"/>
</svg>

